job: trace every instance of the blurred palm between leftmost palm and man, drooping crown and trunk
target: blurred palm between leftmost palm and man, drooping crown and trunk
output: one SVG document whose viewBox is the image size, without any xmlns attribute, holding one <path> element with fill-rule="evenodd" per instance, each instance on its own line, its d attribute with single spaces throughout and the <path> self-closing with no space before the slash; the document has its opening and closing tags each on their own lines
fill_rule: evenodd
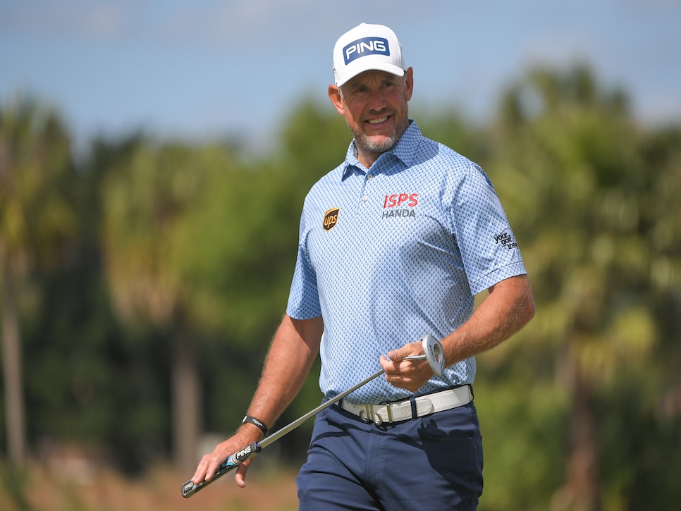
<svg viewBox="0 0 681 511">
<path fill-rule="evenodd" d="M 193 247 L 183 238 L 207 185 L 207 166 L 196 155 L 180 144 L 139 144 L 102 185 L 102 245 L 116 309 L 128 324 L 151 325 L 170 341 L 173 451 L 185 471 L 196 462 L 201 418 L 196 292 L 185 273 Z"/>
</svg>

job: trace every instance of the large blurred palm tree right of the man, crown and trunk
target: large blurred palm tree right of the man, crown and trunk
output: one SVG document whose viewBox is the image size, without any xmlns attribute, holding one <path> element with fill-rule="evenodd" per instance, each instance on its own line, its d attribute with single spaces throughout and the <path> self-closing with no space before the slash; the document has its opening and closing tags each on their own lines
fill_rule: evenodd
<svg viewBox="0 0 681 511">
<path fill-rule="evenodd" d="M 556 353 L 568 395 L 569 452 L 556 508 L 596 510 L 599 390 L 622 367 L 650 357 L 652 312 L 632 289 L 649 260 L 639 214 L 644 175 L 620 92 L 601 92 L 584 66 L 536 69 L 503 97 L 500 190 L 534 274 L 538 314 L 529 328 Z M 537 344 L 535 347 L 540 347 Z M 545 349 L 541 347 L 540 349 Z"/>
</svg>

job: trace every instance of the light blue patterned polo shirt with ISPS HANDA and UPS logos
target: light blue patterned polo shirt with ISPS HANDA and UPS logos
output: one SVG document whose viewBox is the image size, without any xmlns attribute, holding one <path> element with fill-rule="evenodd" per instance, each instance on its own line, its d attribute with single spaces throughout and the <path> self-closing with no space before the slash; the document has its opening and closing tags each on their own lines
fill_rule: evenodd
<svg viewBox="0 0 681 511">
<path fill-rule="evenodd" d="M 355 143 L 309 191 L 287 313 L 324 317 L 319 385 L 328 398 L 381 369 L 379 357 L 470 318 L 474 295 L 525 272 L 484 171 L 424 137 L 414 121 L 370 169 Z M 433 376 L 417 394 L 473 383 L 475 359 Z M 348 400 L 409 398 L 376 378 Z"/>
</svg>

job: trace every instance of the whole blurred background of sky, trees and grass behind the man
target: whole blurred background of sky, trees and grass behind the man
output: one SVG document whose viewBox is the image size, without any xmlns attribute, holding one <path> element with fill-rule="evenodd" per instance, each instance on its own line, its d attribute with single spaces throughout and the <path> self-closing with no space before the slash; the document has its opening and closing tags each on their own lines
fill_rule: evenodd
<svg viewBox="0 0 681 511">
<path fill-rule="evenodd" d="M 257 385 L 361 22 L 491 177 L 534 288 L 479 357 L 479 509 L 681 500 L 680 1 L 0 0 L 3 510 L 296 509 L 311 424 L 243 491 L 180 485 Z"/>
</svg>

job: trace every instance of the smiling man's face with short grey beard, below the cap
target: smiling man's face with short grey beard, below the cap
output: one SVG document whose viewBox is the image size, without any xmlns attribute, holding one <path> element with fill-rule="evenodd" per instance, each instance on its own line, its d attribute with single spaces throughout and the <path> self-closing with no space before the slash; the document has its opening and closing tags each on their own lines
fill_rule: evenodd
<svg viewBox="0 0 681 511">
<path fill-rule="evenodd" d="M 357 159 L 367 168 L 395 147 L 407 129 L 413 83 L 409 68 L 403 77 L 370 70 L 346 82 L 340 91 L 329 86 L 331 101 L 355 137 Z"/>
</svg>

